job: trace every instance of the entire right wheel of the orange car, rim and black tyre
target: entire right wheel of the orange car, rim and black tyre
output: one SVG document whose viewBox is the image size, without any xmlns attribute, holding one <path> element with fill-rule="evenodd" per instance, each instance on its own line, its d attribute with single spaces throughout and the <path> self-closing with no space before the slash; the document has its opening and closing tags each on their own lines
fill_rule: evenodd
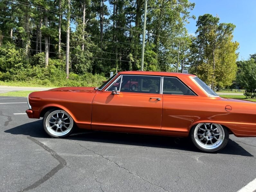
<svg viewBox="0 0 256 192">
<path fill-rule="evenodd" d="M 191 129 L 190 138 L 199 150 L 215 152 L 227 145 L 229 133 L 220 124 L 199 123 Z"/>
</svg>

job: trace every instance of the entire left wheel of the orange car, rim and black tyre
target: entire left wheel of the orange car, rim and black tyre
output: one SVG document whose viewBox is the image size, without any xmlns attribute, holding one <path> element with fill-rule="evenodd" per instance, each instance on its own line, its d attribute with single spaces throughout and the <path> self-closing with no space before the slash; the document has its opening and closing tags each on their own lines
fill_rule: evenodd
<svg viewBox="0 0 256 192">
<path fill-rule="evenodd" d="M 74 121 L 66 111 L 52 109 L 43 117 L 43 128 L 51 137 L 67 137 L 74 129 Z"/>
</svg>

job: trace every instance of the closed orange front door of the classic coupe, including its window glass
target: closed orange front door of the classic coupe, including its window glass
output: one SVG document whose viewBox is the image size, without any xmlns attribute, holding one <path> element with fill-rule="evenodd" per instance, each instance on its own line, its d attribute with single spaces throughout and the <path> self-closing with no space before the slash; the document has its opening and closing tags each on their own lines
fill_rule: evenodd
<svg viewBox="0 0 256 192">
<path fill-rule="evenodd" d="M 119 94 L 112 94 L 117 88 Z M 160 131 L 161 77 L 120 75 L 92 103 L 92 129 Z"/>
</svg>

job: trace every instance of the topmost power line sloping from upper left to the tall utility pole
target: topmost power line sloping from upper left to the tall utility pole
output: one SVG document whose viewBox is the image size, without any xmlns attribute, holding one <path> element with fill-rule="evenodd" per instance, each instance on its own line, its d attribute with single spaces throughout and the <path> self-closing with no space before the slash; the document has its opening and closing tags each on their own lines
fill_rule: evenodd
<svg viewBox="0 0 256 192">
<path fill-rule="evenodd" d="M 4 0 L 4 1 L 8 1 L 8 0 Z M 54 10 L 54 9 L 46 9 L 45 7 L 42 7 L 42 6 L 39 6 L 39 5 L 28 4 L 28 3 L 21 2 L 21 1 L 17 1 L 17 0 L 14 0 L 14 1 L 19 2 L 19 3 L 17 3 L 17 4 L 20 4 L 20 5 L 25 5 L 25 4 L 27 4 L 27 5 L 25 5 L 25 6 L 30 6 L 31 8 L 33 8 L 32 6 L 34 6 L 34 7 L 37 7 L 37 8 L 39 8 L 39 9 L 41 9 L 41 10 L 50 11 L 50 12 L 52 12 L 52 13 L 57 13 L 57 14 L 66 15 L 66 16 L 70 16 L 70 17 L 77 17 L 77 18 L 80 18 L 80 19 L 83 18 L 83 17 L 77 16 L 77 15 L 68 14 L 68 13 L 65 13 L 65 12 L 62 13 L 62 12 L 57 11 L 57 10 Z M 13 3 L 14 1 L 8 1 L 8 2 Z M 128 31 L 133 31 L 133 32 L 138 32 L 138 33 L 142 33 L 141 31 L 138 31 L 138 30 L 133 30 L 133 29 L 121 27 L 121 26 L 114 25 L 114 24 L 111 24 L 111 23 L 100 22 L 100 21 L 96 21 L 96 20 L 88 19 L 88 18 L 85 18 L 85 19 L 87 19 L 88 21 L 91 21 L 91 22 L 95 22 L 95 23 L 102 23 L 102 24 L 106 24 L 106 25 L 111 25 L 111 26 L 116 27 L 116 28 L 125 29 L 125 30 L 128 30 Z"/>
</svg>

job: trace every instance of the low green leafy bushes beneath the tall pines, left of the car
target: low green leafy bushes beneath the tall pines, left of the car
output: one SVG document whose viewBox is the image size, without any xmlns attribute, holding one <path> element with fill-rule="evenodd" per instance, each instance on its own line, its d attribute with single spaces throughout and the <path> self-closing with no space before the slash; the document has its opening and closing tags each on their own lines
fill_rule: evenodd
<svg viewBox="0 0 256 192">
<path fill-rule="evenodd" d="M 78 75 L 69 74 L 66 78 L 65 61 L 61 59 L 49 59 L 49 65 L 45 68 L 45 54 L 38 53 L 31 59 L 24 57 L 22 50 L 16 50 L 10 44 L 8 48 L 0 47 L 0 81 L 31 82 L 32 85 L 49 87 L 97 87 L 106 80 L 101 75 L 84 73 Z"/>
</svg>

